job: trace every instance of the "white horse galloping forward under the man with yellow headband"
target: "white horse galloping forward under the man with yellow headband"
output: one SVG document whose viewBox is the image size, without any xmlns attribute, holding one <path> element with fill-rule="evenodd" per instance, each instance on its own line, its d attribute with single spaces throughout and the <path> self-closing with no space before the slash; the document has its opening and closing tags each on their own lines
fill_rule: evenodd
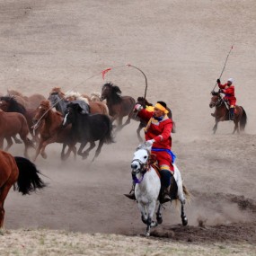
<svg viewBox="0 0 256 256">
<path fill-rule="evenodd" d="M 159 199 L 161 189 L 160 174 L 153 164 L 155 162 L 154 154 L 151 154 L 151 146 L 146 144 L 139 145 L 134 153 L 131 162 L 132 177 L 135 182 L 135 197 L 138 208 L 141 213 L 141 219 L 146 224 L 146 236 L 150 235 L 151 227 L 163 223 L 162 205 L 158 203 L 156 211 L 156 221 L 153 220 L 154 210 Z M 190 192 L 182 183 L 181 172 L 176 164 L 174 166 L 174 175 L 172 176 L 170 197 L 173 200 L 181 202 L 181 221 L 182 225 L 188 225 L 188 218 L 184 212 L 185 197 L 190 198 Z M 172 201 L 171 201 L 172 203 Z"/>
</svg>

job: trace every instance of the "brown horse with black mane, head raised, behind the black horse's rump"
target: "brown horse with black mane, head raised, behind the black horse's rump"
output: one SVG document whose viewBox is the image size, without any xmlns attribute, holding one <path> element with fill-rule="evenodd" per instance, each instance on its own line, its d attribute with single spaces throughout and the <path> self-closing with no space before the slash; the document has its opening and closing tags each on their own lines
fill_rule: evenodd
<svg viewBox="0 0 256 256">
<path fill-rule="evenodd" d="M 102 86 L 102 101 L 107 101 L 107 106 L 112 117 L 112 122 L 117 119 L 117 130 L 130 123 L 135 107 L 135 99 L 131 96 L 121 96 L 119 86 L 107 83 Z M 128 119 L 122 124 L 122 119 L 128 116 Z"/>
</svg>

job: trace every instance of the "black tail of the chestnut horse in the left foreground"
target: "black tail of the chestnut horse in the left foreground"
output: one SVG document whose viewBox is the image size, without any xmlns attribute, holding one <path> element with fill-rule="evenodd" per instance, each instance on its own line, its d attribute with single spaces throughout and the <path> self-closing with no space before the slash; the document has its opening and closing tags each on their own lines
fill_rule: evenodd
<svg viewBox="0 0 256 256">
<path fill-rule="evenodd" d="M 40 171 L 34 163 L 27 158 L 14 156 L 19 169 L 18 181 L 14 185 L 14 190 L 18 190 L 22 195 L 28 195 L 31 191 L 43 189 L 46 187 L 44 181 L 40 179 Z"/>
</svg>

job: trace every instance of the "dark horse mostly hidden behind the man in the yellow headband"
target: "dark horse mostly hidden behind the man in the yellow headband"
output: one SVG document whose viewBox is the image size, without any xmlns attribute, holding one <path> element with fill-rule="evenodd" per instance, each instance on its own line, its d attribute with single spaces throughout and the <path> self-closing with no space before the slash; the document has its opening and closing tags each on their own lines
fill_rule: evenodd
<svg viewBox="0 0 256 256">
<path fill-rule="evenodd" d="M 147 100 L 146 100 L 144 97 L 138 97 L 138 98 L 137 98 L 137 104 L 142 105 L 144 109 L 146 109 L 147 106 L 153 106 L 153 104 L 150 103 L 150 102 L 147 102 Z M 167 110 L 169 111 L 168 114 L 167 114 L 168 118 L 169 118 L 169 119 L 172 119 L 172 110 L 169 109 L 168 107 L 167 107 Z M 134 115 L 134 116 L 133 116 L 133 119 L 139 121 L 139 125 L 138 125 L 136 131 L 137 131 L 137 138 L 138 138 L 138 140 L 139 140 L 140 142 L 142 142 L 142 141 L 143 141 L 143 138 L 140 136 L 140 131 L 142 130 L 142 128 L 145 128 L 145 127 L 146 127 L 146 122 L 145 122 L 144 120 L 142 120 L 142 119 L 139 119 L 139 118 L 137 117 L 137 115 Z M 176 124 L 175 124 L 175 122 L 172 120 L 172 133 L 175 133 L 175 132 L 176 132 Z"/>
</svg>

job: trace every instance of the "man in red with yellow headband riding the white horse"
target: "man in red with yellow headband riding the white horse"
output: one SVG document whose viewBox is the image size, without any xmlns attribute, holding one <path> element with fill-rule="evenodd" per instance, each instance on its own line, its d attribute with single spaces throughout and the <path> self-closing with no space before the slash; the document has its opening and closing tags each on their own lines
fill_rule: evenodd
<svg viewBox="0 0 256 256">
<path fill-rule="evenodd" d="M 160 193 L 161 203 L 171 200 L 170 187 L 171 178 L 174 172 L 172 163 L 175 155 L 172 154 L 172 119 L 167 117 L 168 110 L 166 110 L 165 102 L 157 102 L 154 105 L 154 111 L 144 110 L 140 104 L 135 106 L 137 116 L 147 122 L 145 128 L 146 146 L 152 146 L 151 153 L 155 154 L 161 174 Z M 134 185 L 129 194 L 125 194 L 128 199 L 136 199 L 134 192 Z"/>
</svg>

